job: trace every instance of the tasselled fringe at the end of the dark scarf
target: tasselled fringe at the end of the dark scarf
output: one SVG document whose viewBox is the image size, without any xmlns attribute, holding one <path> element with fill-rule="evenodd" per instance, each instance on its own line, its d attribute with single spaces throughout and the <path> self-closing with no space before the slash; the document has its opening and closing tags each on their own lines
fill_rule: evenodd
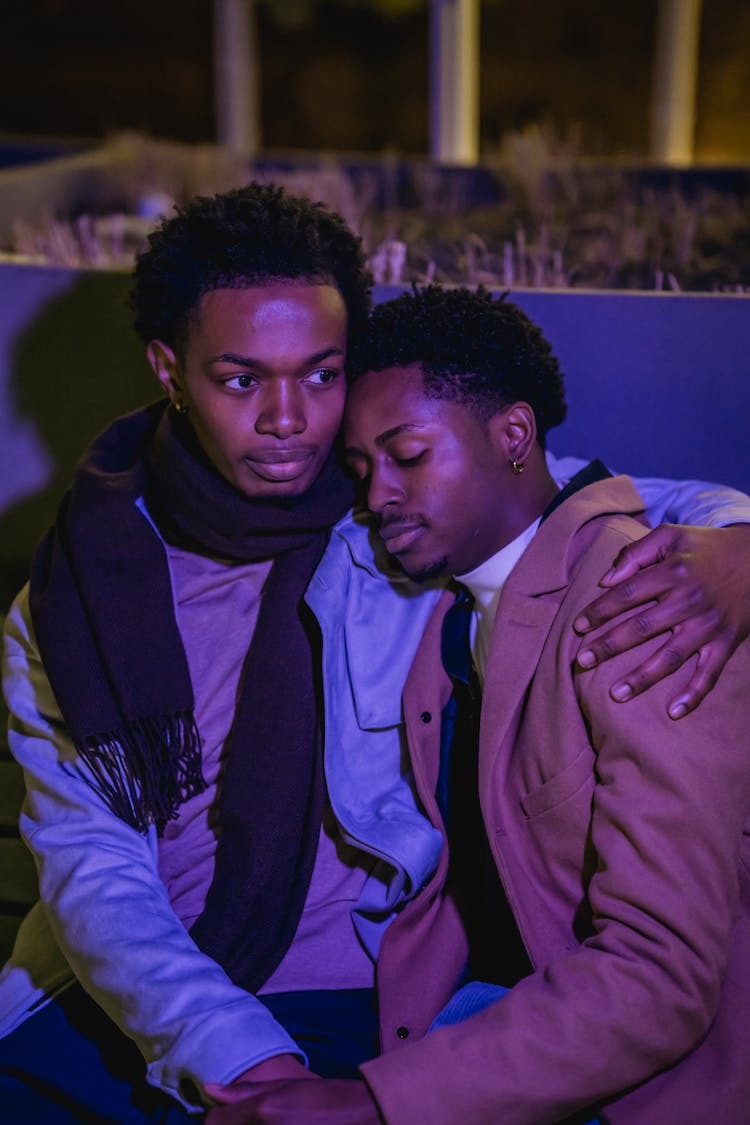
<svg viewBox="0 0 750 1125">
<path fill-rule="evenodd" d="M 134 719 L 117 730 L 88 736 L 76 749 L 92 788 L 116 817 L 139 832 L 153 824 L 161 836 L 180 804 L 207 788 L 192 711 Z"/>
</svg>

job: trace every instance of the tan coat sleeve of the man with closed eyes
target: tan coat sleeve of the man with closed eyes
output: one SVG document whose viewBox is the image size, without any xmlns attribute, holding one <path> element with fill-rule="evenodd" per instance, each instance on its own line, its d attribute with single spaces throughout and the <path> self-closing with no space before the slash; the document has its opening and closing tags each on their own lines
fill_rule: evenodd
<svg viewBox="0 0 750 1125">
<path fill-rule="evenodd" d="M 561 637 L 600 566 L 594 555 Z M 572 677 L 572 647 L 561 642 L 557 651 L 557 674 Z M 365 1063 L 388 1125 L 558 1122 L 677 1063 L 711 1027 L 738 916 L 750 799 L 748 646 L 734 654 L 711 702 L 680 722 L 666 716 L 663 686 L 614 703 L 608 686 L 626 656 L 617 662 L 614 673 L 607 665 L 570 683 L 584 719 L 573 768 L 585 776 L 569 794 L 576 811 L 559 807 L 555 814 L 563 826 L 573 818 L 577 839 L 589 827 L 590 845 L 585 863 L 582 848 L 563 843 L 571 838 L 564 828 L 550 845 L 566 849 L 561 862 L 582 888 L 573 924 L 580 944 L 536 964 L 466 1023 Z M 555 736 L 552 724 L 554 737 L 567 735 Z M 580 798 L 584 785 L 590 802 Z M 543 866 L 542 857 L 534 868 L 542 882 L 551 879 L 540 874 Z M 528 868 L 516 878 L 528 879 Z"/>
</svg>

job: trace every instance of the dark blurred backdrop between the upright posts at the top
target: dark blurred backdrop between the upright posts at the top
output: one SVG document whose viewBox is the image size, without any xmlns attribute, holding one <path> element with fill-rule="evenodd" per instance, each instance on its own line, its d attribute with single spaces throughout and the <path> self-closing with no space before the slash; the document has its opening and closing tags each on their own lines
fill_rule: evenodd
<svg viewBox="0 0 750 1125">
<path fill-rule="evenodd" d="M 246 0 L 254 144 L 430 151 L 428 0 Z M 120 129 L 220 140 L 211 0 L 4 3 L 0 133 L 97 141 Z M 220 4 L 219 4 L 220 7 Z M 659 0 L 481 0 L 479 145 L 532 124 L 589 156 L 651 151 Z M 674 7 L 674 6 L 672 6 Z M 679 4 L 678 4 L 679 7 Z M 694 156 L 750 158 L 750 3 L 699 9 Z"/>
</svg>

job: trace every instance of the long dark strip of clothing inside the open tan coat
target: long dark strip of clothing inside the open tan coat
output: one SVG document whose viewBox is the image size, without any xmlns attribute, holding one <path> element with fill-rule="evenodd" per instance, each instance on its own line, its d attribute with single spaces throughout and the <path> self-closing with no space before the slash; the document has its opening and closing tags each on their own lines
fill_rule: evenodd
<svg viewBox="0 0 750 1125">
<path fill-rule="evenodd" d="M 449 880 L 469 937 L 475 980 L 510 987 L 531 972 L 515 919 L 495 867 L 479 804 L 481 688 L 471 658 L 473 597 L 458 587 L 443 619 L 441 657 L 453 692 L 441 722 L 437 804 L 451 860 Z"/>
</svg>

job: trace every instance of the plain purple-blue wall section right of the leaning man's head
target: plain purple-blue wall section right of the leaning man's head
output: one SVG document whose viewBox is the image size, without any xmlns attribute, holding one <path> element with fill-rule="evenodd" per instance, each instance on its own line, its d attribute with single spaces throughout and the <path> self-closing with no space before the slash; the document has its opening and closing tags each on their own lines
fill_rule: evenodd
<svg viewBox="0 0 750 1125">
<path fill-rule="evenodd" d="M 569 418 L 550 446 L 641 475 L 750 492 L 750 297 L 535 294 L 567 377 Z"/>
</svg>

